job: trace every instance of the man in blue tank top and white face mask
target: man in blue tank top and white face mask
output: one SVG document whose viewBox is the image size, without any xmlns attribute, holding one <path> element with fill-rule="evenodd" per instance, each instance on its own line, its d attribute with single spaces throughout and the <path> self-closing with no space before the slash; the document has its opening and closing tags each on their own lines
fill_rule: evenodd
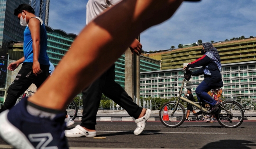
<svg viewBox="0 0 256 149">
<path fill-rule="evenodd" d="M 47 34 L 42 19 L 36 17 L 34 9 L 27 4 L 19 5 L 14 10 L 14 15 L 18 16 L 20 25 L 26 26 L 23 46 L 24 57 L 10 63 L 7 68 L 13 71 L 19 64 L 23 64 L 14 82 L 9 86 L 8 95 L 0 112 L 12 108 L 18 97 L 32 83 L 35 83 L 39 88 L 49 75 L 50 63 L 46 53 Z"/>
</svg>

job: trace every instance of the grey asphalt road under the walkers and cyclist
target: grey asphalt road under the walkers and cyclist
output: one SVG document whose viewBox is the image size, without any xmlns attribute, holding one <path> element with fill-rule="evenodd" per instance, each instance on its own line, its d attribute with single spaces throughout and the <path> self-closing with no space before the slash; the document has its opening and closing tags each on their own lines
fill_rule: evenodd
<svg viewBox="0 0 256 149">
<path fill-rule="evenodd" d="M 68 129 L 73 128 L 76 122 Z M 244 121 L 238 128 L 223 128 L 218 122 L 185 121 L 178 128 L 161 122 L 147 122 L 135 136 L 134 122 L 98 121 L 97 136 L 106 139 L 68 138 L 71 149 L 84 148 L 169 148 L 169 149 L 256 149 L 256 121 Z M 0 139 L 0 144 L 6 144 Z M 0 145 L 1 146 L 1 145 Z"/>
</svg>

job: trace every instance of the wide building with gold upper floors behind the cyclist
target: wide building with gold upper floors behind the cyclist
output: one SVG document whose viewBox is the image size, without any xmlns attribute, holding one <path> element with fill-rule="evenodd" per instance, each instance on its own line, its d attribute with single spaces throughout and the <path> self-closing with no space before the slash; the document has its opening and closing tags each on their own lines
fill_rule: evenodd
<svg viewBox="0 0 256 149">
<path fill-rule="evenodd" d="M 226 98 L 256 99 L 256 38 L 214 43 L 219 51 L 222 64 L 223 96 Z M 160 71 L 140 74 L 141 97 L 170 98 L 178 94 L 183 77 L 178 78 L 172 91 L 175 77 L 181 73 L 183 65 L 200 58 L 202 46 L 147 54 L 149 58 L 161 57 Z M 197 70 L 198 68 L 192 68 Z M 182 75 L 183 76 L 183 75 Z M 203 80 L 203 75 L 192 76 L 186 81 L 185 90 L 195 89 Z"/>
</svg>

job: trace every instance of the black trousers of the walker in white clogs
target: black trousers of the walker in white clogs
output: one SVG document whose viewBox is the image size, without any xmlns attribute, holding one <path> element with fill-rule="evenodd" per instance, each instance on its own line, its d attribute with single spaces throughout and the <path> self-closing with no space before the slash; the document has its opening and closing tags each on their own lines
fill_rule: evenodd
<svg viewBox="0 0 256 149">
<path fill-rule="evenodd" d="M 135 119 L 139 117 L 142 108 L 134 103 L 127 92 L 115 82 L 115 66 L 111 66 L 87 90 L 82 91 L 83 112 L 81 126 L 95 130 L 96 115 L 102 93 L 124 108 L 130 116 Z"/>
</svg>

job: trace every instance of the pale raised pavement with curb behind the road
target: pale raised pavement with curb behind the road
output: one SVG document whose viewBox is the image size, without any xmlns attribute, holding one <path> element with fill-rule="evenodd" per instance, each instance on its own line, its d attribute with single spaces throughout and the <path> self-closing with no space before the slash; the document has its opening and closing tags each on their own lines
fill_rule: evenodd
<svg viewBox="0 0 256 149">
<path fill-rule="evenodd" d="M 81 120 L 82 110 L 78 110 L 78 120 Z M 195 117 L 190 115 L 190 117 Z M 126 110 L 98 110 L 97 121 L 133 121 L 133 117 L 129 116 Z M 246 110 L 245 120 L 256 120 L 256 110 Z M 159 110 L 151 110 L 148 121 L 160 121 Z"/>
</svg>

